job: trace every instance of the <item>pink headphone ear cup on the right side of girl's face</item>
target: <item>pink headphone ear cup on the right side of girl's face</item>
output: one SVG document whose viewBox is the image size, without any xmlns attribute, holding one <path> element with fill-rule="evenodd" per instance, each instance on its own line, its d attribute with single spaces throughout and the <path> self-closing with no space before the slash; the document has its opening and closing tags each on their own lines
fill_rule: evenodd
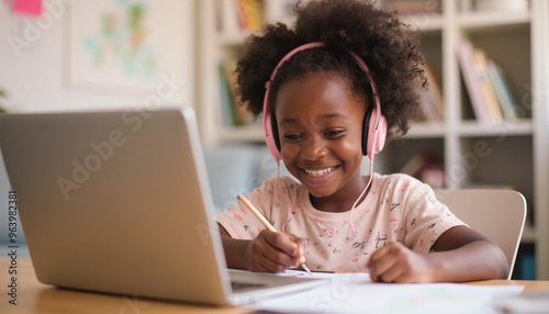
<svg viewBox="0 0 549 314">
<path fill-rule="evenodd" d="M 378 117 L 379 116 L 379 117 Z M 370 159 L 383 149 L 386 138 L 386 120 L 376 105 L 368 106 L 362 125 L 362 155 Z"/>
</svg>

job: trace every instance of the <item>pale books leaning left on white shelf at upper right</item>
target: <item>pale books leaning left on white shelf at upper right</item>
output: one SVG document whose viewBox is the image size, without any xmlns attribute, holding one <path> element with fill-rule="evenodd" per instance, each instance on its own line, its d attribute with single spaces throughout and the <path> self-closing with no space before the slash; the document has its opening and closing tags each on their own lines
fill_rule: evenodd
<svg viewBox="0 0 549 314">
<path fill-rule="evenodd" d="M 516 119 L 518 105 L 501 67 L 467 40 L 459 45 L 458 58 L 477 120 L 498 123 Z"/>
</svg>

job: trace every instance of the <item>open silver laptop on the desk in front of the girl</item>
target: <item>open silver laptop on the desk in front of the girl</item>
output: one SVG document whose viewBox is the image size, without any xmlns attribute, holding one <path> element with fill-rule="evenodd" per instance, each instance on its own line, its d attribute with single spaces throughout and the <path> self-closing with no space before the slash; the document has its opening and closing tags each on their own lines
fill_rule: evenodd
<svg viewBox="0 0 549 314">
<path fill-rule="evenodd" d="M 2 114 L 0 149 L 43 283 L 221 305 L 325 282 L 226 269 L 190 108 Z"/>
</svg>

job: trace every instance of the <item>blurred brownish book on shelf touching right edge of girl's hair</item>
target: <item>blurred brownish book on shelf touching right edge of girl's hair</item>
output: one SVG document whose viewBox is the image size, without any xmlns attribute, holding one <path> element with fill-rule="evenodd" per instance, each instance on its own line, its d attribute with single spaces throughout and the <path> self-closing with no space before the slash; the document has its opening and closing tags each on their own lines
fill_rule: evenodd
<svg viewBox="0 0 549 314">
<path fill-rule="evenodd" d="M 440 85 L 428 64 L 424 66 L 424 74 L 427 78 L 427 89 L 422 91 L 421 114 L 425 121 L 442 121 L 444 104 Z"/>
</svg>

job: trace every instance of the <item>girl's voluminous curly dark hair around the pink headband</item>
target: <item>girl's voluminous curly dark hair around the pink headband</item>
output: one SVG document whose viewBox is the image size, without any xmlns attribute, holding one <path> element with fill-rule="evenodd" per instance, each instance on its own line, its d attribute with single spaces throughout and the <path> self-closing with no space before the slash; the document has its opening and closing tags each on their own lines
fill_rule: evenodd
<svg viewBox="0 0 549 314">
<path fill-rule="evenodd" d="M 380 10 L 369 1 L 300 2 L 294 7 L 298 18 L 293 30 L 282 23 L 270 24 L 262 35 L 248 37 L 236 68 L 242 101 L 259 115 L 265 83 L 279 60 L 300 45 L 323 42 L 325 46 L 300 52 L 279 68 L 271 85 L 272 103 L 281 82 L 317 71 L 336 72 L 354 82 L 354 94 L 372 99 L 366 74 L 348 53 L 352 51 L 370 68 L 389 134 L 405 134 L 408 121 L 417 117 L 419 88 L 427 83 L 418 38 L 395 12 Z"/>
</svg>

